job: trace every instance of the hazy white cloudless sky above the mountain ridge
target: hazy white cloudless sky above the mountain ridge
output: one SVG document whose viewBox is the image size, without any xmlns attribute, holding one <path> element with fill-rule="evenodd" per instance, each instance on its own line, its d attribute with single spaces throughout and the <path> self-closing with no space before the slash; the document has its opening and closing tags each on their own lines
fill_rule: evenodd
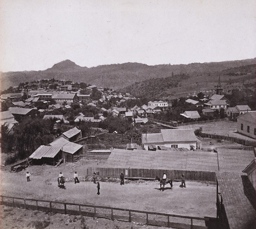
<svg viewBox="0 0 256 229">
<path fill-rule="evenodd" d="M 254 0 L 1 0 L 0 71 L 256 57 Z"/>
</svg>

